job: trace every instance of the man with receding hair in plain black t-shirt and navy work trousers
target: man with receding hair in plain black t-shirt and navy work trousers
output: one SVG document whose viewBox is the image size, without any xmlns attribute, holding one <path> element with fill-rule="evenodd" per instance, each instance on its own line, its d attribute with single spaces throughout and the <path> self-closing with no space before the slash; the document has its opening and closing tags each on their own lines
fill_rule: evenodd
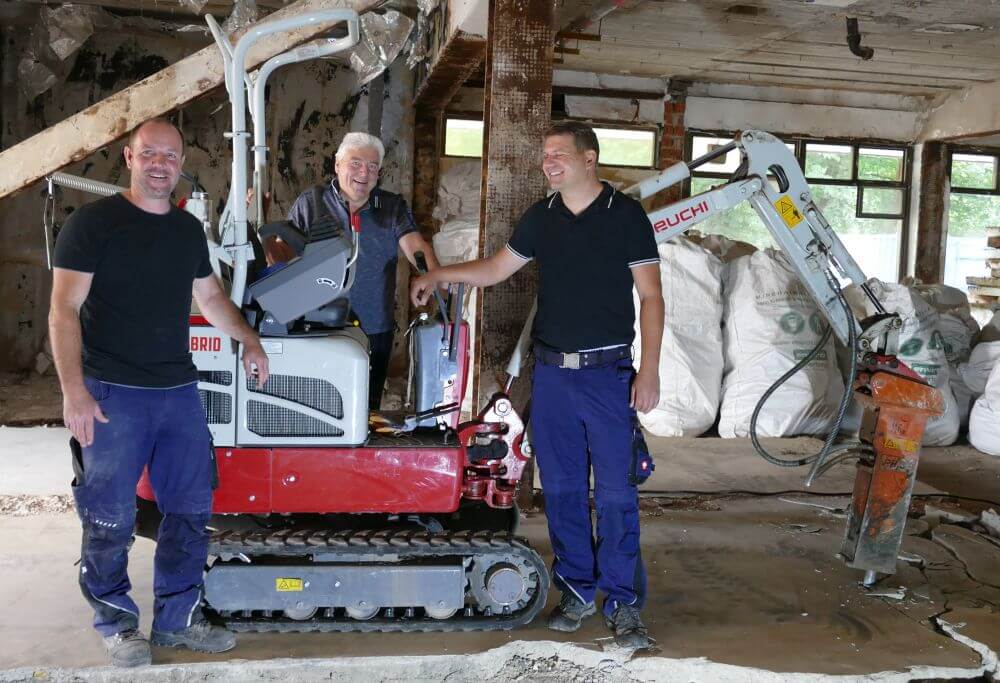
<svg viewBox="0 0 1000 683">
<path fill-rule="evenodd" d="M 212 273 L 201 223 L 170 203 L 184 143 L 163 119 L 133 131 L 129 189 L 73 212 L 56 242 L 49 335 L 73 433 L 73 496 L 83 526 L 80 588 L 116 666 L 149 664 L 127 553 L 135 487 L 148 467 L 163 521 L 152 642 L 223 652 L 233 634 L 201 613 L 214 454 L 188 351 L 192 293 L 242 342 L 247 374 L 267 380 L 260 340 Z"/>
</svg>

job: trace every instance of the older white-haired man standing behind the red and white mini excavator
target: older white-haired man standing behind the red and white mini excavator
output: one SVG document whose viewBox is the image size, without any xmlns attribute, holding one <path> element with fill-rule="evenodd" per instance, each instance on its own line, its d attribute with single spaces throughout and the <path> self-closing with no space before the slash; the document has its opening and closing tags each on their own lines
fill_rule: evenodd
<svg viewBox="0 0 1000 683">
<path fill-rule="evenodd" d="M 406 200 L 378 187 L 385 157 L 382 141 L 368 133 L 348 133 L 337 149 L 336 177 L 323 187 L 303 192 L 288 220 L 305 235 L 311 226 L 333 220 L 353 230 L 360 240 L 357 272 L 351 289 L 351 310 L 368 335 L 371 352 L 369 407 L 382 401 L 394 332 L 396 264 L 402 249 L 410 263 L 422 251 L 427 265 L 438 267 L 434 250 L 421 236 Z M 294 254 L 276 238 L 264 240 L 269 263 Z"/>
</svg>

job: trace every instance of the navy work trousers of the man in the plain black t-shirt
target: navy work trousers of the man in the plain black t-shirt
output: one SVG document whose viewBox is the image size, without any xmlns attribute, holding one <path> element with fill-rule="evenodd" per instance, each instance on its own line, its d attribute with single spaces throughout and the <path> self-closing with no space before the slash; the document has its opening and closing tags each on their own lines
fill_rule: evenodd
<svg viewBox="0 0 1000 683">
<path fill-rule="evenodd" d="M 215 461 L 196 384 L 143 389 L 86 378 L 107 424 L 73 448 L 73 496 L 83 525 L 80 588 L 102 636 L 138 628 L 129 597 L 128 550 L 135 529 L 135 487 L 149 467 L 163 513 L 154 565 L 153 628 L 177 631 L 200 612 L 208 553 Z"/>
</svg>

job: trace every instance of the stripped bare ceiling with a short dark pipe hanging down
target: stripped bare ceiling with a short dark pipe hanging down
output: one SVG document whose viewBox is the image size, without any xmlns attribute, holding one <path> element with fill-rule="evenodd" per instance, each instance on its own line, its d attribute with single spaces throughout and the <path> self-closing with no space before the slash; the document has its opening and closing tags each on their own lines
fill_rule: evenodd
<svg viewBox="0 0 1000 683">
<path fill-rule="evenodd" d="M 1000 78 L 1000 0 L 558 1 L 561 69 L 925 97 Z"/>
</svg>

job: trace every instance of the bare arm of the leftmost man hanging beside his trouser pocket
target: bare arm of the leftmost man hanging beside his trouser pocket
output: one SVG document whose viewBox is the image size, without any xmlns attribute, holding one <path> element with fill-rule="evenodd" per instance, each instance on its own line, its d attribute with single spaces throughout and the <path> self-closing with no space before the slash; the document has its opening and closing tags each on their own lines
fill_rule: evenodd
<svg viewBox="0 0 1000 683">
<path fill-rule="evenodd" d="M 94 420 L 108 422 L 83 383 L 80 307 L 87 300 L 93 280 L 93 273 L 54 268 L 49 304 L 49 339 L 62 388 L 63 422 L 84 446 L 94 442 Z"/>
</svg>

